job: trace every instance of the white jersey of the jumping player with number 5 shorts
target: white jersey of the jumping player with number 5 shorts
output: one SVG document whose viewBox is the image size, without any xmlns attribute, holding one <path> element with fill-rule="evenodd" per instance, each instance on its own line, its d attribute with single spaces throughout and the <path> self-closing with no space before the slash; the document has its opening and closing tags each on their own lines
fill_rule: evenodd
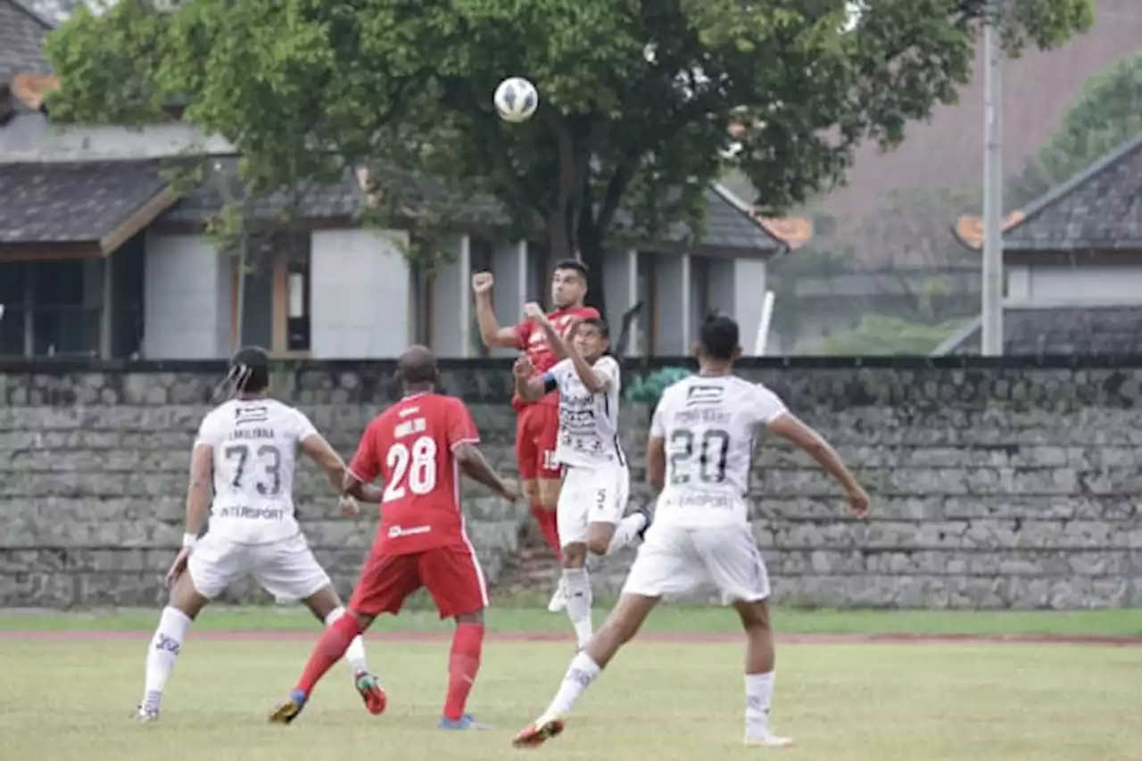
<svg viewBox="0 0 1142 761">
<path fill-rule="evenodd" d="M 558 362 L 544 375 L 548 386 L 560 392 L 560 434 L 555 462 L 561 465 L 598 467 L 626 465 L 619 442 L 619 392 L 622 375 L 613 357 L 601 357 L 592 367 L 610 382 L 605 391 L 587 390 L 570 359 Z"/>
</svg>

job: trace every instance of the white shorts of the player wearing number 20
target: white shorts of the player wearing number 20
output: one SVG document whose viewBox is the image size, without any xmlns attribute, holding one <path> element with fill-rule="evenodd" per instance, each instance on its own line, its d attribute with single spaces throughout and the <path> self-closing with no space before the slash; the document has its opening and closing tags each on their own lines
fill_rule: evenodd
<svg viewBox="0 0 1142 761">
<path fill-rule="evenodd" d="M 622 593 L 674 598 L 707 585 L 721 593 L 722 604 L 770 596 L 770 575 L 748 526 L 652 524 Z"/>
</svg>

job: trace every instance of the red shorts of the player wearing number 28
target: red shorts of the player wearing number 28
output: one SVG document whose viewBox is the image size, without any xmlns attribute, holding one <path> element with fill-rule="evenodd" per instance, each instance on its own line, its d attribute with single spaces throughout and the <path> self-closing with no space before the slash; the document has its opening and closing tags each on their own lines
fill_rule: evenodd
<svg viewBox="0 0 1142 761">
<path fill-rule="evenodd" d="M 428 590 L 441 618 L 488 607 L 488 586 L 471 547 L 436 547 L 407 555 L 369 554 L 348 608 L 367 616 L 396 615 L 410 594 Z"/>
</svg>

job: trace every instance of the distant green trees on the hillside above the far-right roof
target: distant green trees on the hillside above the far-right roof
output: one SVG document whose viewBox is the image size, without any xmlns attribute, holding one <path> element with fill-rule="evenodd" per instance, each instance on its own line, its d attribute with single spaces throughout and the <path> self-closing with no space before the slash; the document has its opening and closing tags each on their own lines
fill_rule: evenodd
<svg viewBox="0 0 1142 761">
<path fill-rule="evenodd" d="M 1060 185 L 1142 135 L 1142 55 L 1092 77 L 1045 146 L 1012 183 L 1013 207 Z"/>
</svg>

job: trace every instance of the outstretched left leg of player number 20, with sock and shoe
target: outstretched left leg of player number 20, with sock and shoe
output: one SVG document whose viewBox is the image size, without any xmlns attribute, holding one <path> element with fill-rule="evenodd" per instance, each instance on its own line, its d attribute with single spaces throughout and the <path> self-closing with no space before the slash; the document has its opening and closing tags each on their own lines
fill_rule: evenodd
<svg viewBox="0 0 1142 761">
<path fill-rule="evenodd" d="M 592 682 L 598 679 L 603 668 L 624 644 L 629 642 L 650 611 L 658 604 L 659 598 L 648 598 L 641 594 L 624 594 L 619 603 L 606 617 L 606 623 L 592 638 L 568 667 L 563 683 L 547 711 L 536 721 L 524 727 L 512 740 L 515 747 L 537 747 L 553 737 L 557 737 L 565 727 L 566 714 L 576 702 L 587 691 Z"/>
</svg>

